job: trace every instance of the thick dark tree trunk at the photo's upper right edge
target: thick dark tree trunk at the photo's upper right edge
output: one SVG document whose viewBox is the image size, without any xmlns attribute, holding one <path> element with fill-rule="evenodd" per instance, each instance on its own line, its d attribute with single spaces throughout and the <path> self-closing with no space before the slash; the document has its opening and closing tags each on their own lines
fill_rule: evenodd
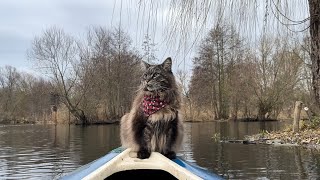
<svg viewBox="0 0 320 180">
<path fill-rule="evenodd" d="M 320 107 L 320 0 L 309 0 L 312 88 L 317 110 Z"/>
</svg>

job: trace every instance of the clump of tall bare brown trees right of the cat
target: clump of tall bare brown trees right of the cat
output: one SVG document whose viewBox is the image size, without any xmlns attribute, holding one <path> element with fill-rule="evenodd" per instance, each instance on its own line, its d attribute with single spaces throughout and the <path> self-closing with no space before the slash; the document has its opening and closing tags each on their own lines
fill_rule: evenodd
<svg viewBox="0 0 320 180">
<path fill-rule="evenodd" d="M 264 34 L 248 44 L 227 25 L 202 40 L 188 92 L 191 119 L 291 118 L 296 100 L 313 105 L 308 36 Z"/>
</svg>

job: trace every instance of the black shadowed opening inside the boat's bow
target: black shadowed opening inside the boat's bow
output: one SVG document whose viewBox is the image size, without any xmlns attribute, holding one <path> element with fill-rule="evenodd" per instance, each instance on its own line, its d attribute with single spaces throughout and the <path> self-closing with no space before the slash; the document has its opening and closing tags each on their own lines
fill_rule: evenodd
<svg viewBox="0 0 320 180">
<path fill-rule="evenodd" d="M 172 176 L 170 173 L 162 170 L 150 170 L 150 169 L 139 169 L 139 170 L 127 170 L 120 171 L 111 176 L 105 178 L 109 179 L 165 179 L 165 180 L 175 180 L 176 177 Z"/>
</svg>

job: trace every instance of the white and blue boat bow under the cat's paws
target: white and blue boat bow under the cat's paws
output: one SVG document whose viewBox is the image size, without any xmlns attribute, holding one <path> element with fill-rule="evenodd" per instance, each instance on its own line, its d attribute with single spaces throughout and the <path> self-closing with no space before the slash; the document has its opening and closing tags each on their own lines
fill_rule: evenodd
<svg viewBox="0 0 320 180">
<path fill-rule="evenodd" d="M 187 163 L 179 157 L 170 160 L 160 153 L 153 152 L 150 158 L 142 160 L 136 158 L 135 152 L 121 147 L 80 167 L 62 179 L 105 179 L 117 172 L 138 169 L 163 170 L 177 179 L 221 179 L 220 176 Z"/>
</svg>

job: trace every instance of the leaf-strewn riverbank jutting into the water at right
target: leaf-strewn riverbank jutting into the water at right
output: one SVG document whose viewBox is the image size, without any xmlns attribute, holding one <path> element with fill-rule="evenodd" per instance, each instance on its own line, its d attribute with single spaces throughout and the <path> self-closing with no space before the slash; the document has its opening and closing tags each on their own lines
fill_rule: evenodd
<svg viewBox="0 0 320 180">
<path fill-rule="evenodd" d="M 293 132 L 292 125 L 282 131 L 263 131 L 246 136 L 245 142 L 270 145 L 303 146 L 320 150 L 320 118 L 312 121 L 300 121 L 299 132 Z"/>
</svg>

